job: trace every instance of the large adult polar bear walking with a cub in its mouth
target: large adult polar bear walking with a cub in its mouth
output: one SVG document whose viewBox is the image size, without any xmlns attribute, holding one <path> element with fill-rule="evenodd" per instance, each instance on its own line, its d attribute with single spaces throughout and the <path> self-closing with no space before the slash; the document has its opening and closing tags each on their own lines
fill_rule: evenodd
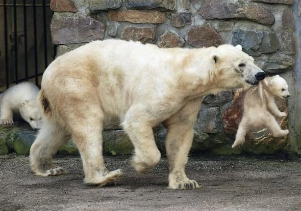
<svg viewBox="0 0 301 211">
<path fill-rule="evenodd" d="M 168 187 L 198 188 L 184 168 L 204 96 L 256 85 L 264 77 L 240 45 L 162 49 L 132 41 L 91 42 L 59 56 L 43 75 L 38 101 L 46 120 L 30 150 L 31 168 L 41 176 L 65 173 L 52 159 L 71 137 L 85 183 L 116 182 L 122 172 L 105 167 L 102 131 L 117 118 L 135 147 L 133 167 L 145 173 L 160 160 L 152 128 L 163 122 Z"/>
</svg>

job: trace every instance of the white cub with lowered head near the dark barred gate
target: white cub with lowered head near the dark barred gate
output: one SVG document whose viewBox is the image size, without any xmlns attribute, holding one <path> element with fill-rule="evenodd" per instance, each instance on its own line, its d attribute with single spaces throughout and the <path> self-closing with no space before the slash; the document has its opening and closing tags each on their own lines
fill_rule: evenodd
<svg viewBox="0 0 301 211">
<path fill-rule="evenodd" d="M 0 95 L 0 124 L 13 125 L 14 113 L 30 124 L 33 129 L 40 129 L 42 114 L 37 95 L 39 88 L 31 82 L 22 82 L 7 89 Z"/>
</svg>

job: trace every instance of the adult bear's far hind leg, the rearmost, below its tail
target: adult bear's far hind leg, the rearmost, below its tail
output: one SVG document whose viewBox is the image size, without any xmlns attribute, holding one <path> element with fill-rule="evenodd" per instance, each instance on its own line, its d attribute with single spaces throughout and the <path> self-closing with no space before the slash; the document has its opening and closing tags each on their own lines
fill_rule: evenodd
<svg viewBox="0 0 301 211">
<path fill-rule="evenodd" d="M 56 154 L 63 144 L 65 144 L 69 135 L 63 128 L 56 124 L 45 122 L 40 129 L 36 140 L 30 148 L 31 169 L 40 176 L 60 175 L 67 173 L 61 167 L 55 167 L 53 164 L 53 155 Z"/>
</svg>

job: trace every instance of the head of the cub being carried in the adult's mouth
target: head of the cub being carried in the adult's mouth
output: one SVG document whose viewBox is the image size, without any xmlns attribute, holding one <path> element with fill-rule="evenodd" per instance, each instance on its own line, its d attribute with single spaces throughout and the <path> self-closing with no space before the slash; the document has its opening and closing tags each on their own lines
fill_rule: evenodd
<svg viewBox="0 0 301 211">
<path fill-rule="evenodd" d="M 279 75 L 268 77 L 265 79 L 268 85 L 269 91 L 279 98 L 288 98 L 290 94 L 288 92 L 288 85 L 284 78 Z"/>
</svg>

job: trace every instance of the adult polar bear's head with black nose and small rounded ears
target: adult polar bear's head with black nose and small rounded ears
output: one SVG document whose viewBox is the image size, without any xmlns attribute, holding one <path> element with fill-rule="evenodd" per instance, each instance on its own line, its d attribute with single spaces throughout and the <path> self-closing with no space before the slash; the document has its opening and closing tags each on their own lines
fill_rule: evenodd
<svg viewBox="0 0 301 211">
<path fill-rule="evenodd" d="M 254 64 L 252 56 L 242 51 L 241 45 L 220 45 L 210 58 L 223 88 L 249 88 L 265 78 L 265 73 Z"/>
</svg>

